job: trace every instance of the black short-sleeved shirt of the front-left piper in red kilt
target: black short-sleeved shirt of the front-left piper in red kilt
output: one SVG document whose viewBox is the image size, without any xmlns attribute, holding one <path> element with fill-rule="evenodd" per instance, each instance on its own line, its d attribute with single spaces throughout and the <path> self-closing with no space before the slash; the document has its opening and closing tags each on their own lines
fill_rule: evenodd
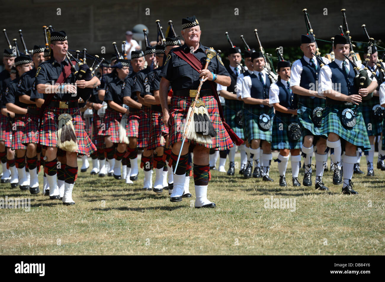
<svg viewBox="0 0 385 282">
<path fill-rule="evenodd" d="M 65 66 L 68 66 L 67 58 L 62 61 L 62 63 L 58 63 L 54 58 L 51 58 L 48 61 L 45 61 L 39 64 L 36 72 L 35 84 L 54 84 L 59 78 Z M 79 70 L 79 66 L 75 65 L 76 70 Z M 71 74 L 64 79 L 63 83 L 75 83 L 75 75 L 71 72 Z M 47 93 L 49 94 L 49 93 Z M 76 96 L 72 96 L 76 95 Z M 79 93 L 55 93 L 55 96 L 52 98 L 53 100 L 62 100 L 62 101 L 70 101 L 79 99 Z"/>
</svg>

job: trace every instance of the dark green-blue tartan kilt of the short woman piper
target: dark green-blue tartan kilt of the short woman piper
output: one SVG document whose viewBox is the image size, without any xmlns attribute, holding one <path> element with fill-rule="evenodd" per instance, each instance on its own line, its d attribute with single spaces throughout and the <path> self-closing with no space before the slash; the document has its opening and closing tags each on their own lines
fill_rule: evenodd
<svg viewBox="0 0 385 282">
<path fill-rule="evenodd" d="M 292 122 L 300 124 L 300 121 L 296 115 L 291 116 L 281 115 L 278 112 L 275 113 L 273 119 L 271 150 L 300 149 L 302 147 L 301 138 L 298 140 L 291 140 L 289 138 L 288 127 Z"/>
</svg>

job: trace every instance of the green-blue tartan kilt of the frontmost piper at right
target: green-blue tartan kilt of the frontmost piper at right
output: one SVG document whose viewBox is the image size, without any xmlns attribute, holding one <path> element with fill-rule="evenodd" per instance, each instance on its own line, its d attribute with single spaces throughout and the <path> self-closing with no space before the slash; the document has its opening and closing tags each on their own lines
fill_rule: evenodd
<svg viewBox="0 0 385 282">
<path fill-rule="evenodd" d="M 341 124 L 341 113 L 344 109 L 350 108 L 356 111 L 356 125 L 352 129 L 346 129 Z M 362 150 L 369 150 L 370 143 L 368 132 L 365 128 L 365 123 L 363 121 L 362 113 L 360 107 L 346 106 L 346 105 L 330 105 L 326 106 L 325 112 L 325 122 L 323 127 L 323 132 L 329 134 L 333 132 L 341 137 L 341 139 L 346 140 L 353 145 L 361 148 Z"/>
</svg>

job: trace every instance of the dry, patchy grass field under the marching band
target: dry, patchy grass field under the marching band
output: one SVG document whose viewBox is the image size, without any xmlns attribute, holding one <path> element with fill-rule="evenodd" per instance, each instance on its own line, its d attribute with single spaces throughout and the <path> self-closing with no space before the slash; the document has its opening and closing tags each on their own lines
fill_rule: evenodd
<svg viewBox="0 0 385 282">
<path fill-rule="evenodd" d="M 361 163 L 366 175 L 365 157 Z M 171 203 L 166 191 L 141 191 L 142 172 L 131 186 L 89 172 L 79 173 L 74 206 L 1 184 L 0 198 L 29 197 L 31 209 L 0 210 L 0 254 L 385 254 L 385 172 L 377 169 L 370 179 L 353 176 L 356 196 L 341 195 L 330 171 L 324 175 L 326 193 L 293 187 L 290 162 L 284 188 L 278 186 L 277 163 L 272 163 L 272 183 L 244 180 L 238 170 L 233 177 L 212 171 L 208 198 L 216 209 L 193 208 L 192 179 L 191 200 Z M 312 179 L 314 184 L 315 173 Z M 295 200 L 295 211 L 265 208 L 271 195 Z"/>
</svg>

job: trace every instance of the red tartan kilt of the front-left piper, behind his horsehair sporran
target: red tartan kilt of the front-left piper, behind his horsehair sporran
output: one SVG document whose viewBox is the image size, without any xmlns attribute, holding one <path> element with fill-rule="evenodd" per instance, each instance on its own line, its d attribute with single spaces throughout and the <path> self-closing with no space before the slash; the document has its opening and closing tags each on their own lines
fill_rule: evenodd
<svg viewBox="0 0 385 282">
<path fill-rule="evenodd" d="M 40 144 L 47 147 L 57 147 L 58 117 L 64 113 L 72 115 L 72 123 L 74 124 L 77 145 L 79 147 L 79 150 L 75 152 L 81 155 L 89 155 L 95 152 L 96 147 L 87 133 L 85 133 L 82 116 L 77 108 L 60 109 L 47 107 L 44 111 L 44 120 L 39 134 Z"/>
</svg>

